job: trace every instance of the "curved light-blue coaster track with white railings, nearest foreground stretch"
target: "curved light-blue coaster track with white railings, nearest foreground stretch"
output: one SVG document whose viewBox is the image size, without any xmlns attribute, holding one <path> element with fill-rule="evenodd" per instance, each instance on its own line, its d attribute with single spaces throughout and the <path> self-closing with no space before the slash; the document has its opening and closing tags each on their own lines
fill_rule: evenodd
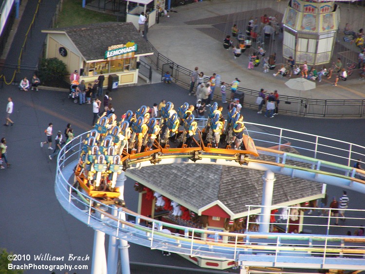
<svg viewBox="0 0 365 274">
<path fill-rule="evenodd" d="M 275 263 L 297 256 L 298 260 L 304 257 L 308 263 L 319 260 L 326 266 L 336 262 L 343 265 L 343 269 L 365 269 L 365 237 L 212 232 L 165 223 L 116 205 L 101 205 L 73 186 L 73 168 L 80 157 L 86 134 L 76 137 L 68 150 L 66 146 L 61 149 L 57 157 L 55 192 L 65 210 L 95 230 L 151 249 L 189 256 L 236 261 L 261 256 L 264 261 L 275 260 Z M 117 214 L 114 214 L 115 210 Z M 177 233 L 164 233 L 163 227 Z M 333 257 L 336 257 L 335 262 Z"/>
</svg>

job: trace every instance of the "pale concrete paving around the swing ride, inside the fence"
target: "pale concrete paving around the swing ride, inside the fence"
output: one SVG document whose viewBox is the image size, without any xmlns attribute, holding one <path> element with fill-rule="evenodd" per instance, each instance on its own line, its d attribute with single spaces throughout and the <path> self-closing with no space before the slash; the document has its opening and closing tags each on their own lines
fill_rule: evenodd
<svg viewBox="0 0 365 274">
<path fill-rule="evenodd" d="M 293 91 L 284 84 L 289 80 L 288 77 L 273 76 L 278 68 L 275 71 L 269 71 L 270 73 L 263 73 L 261 65 L 254 70 L 248 70 L 248 50 L 234 59 L 232 51 L 224 50 L 222 46 L 225 35 L 231 32 L 233 22 L 249 19 L 240 16 L 240 12 L 247 16 L 247 13 L 243 12 L 252 11 L 255 16 L 256 10 L 265 9 L 271 10 L 268 16 L 274 16 L 274 14 L 282 14 L 286 6 L 287 1 L 212 0 L 192 3 L 174 8 L 177 13 L 168 13 L 169 18 L 160 18 L 160 23 L 149 29 L 148 40 L 162 55 L 187 69 L 194 70 L 194 67 L 198 66 L 199 71 L 204 72 L 205 75 L 218 73 L 222 76 L 222 81 L 227 83 L 231 83 L 238 77 L 241 80 L 240 86 L 244 88 L 277 90 L 281 95 L 298 96 L 299 91 Z M 221 31 L 222 23 L 225 24 L 223 32 Z M 243 30 L 246 27 L 239 24 L 238 26 Z M 275 48 L 281 48 L 281 44 L 266 47 L 266 50 Z M 283 61 L 283 58 L 278 56 L 277 63 Z M 359 80 L 357 71 L 348 77 L 347 81 L 340 81 L 337 87 L 332 86 L 334 78 L 332 76 L 329 80 L 323 79 L 321 83 L 317 81 L 317 88 L 306 91 L 306 97 L 313 99 L 365 98 L 365 82 Z M 217 91 L 216 94 L 218 94 Z"/>
</svg>

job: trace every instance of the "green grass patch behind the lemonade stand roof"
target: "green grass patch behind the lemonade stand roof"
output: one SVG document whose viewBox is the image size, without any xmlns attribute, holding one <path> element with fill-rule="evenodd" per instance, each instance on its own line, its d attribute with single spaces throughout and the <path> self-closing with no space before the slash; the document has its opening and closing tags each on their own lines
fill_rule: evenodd
<svg viewBox="0 0 365 274">
<path fill-rule="evenodd" d="M 64 0 L 56 28 L 116 21 L 116 16 L 83 8 L 82 0 Z"/>
</svg>

